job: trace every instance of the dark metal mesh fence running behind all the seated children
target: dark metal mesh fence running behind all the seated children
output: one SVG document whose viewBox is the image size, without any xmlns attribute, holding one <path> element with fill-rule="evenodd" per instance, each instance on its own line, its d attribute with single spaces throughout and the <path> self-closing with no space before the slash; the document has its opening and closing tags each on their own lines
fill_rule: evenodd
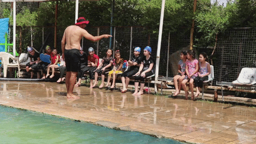
<svg viewBox="0 0 256 144">
<path fill-rule="evenodd" d="M 93 36 L 110 33 L 110 27 L 87 27 L 86 29 Z M 31 46 L 31 40 L 33 41 L 33 46 L 39 50 L 48 35 L 47 45 L 51 47 L 55 45 L 54 27 L 25 27 L 21 35 L 19 30 L 20 28 L 17 28 L 16 49 L 22 47 L 22 52 L 25 52 L 25 47 Z M 57 30 L 56 48 L 60 53 L 60 41 L 64 30 L 65 27 L 58 27 Z M 174 76 L 175 73 L 171 71 L 169 56 L 190 44 L 190 32 L 187 30 L 188 28 L 180 28 L 175 33 L 163 33 L 159 75 Z M 12 40 L 12 34 L 10 36 Z M 23 39 L 20 39 L 20 36 Z M 235 81 L 242 68 L 255 67 L 256 57 L 256 28 L 233 28 L 219 34 L 218 37 L 215 55 L 213 56 L 213 66 L 215 68 L 214 85 L 216 81 Z M 158 34 L 149 34 L 145 27 L 114 27 L 112 39 L 112 49 L 119 49 L 121 57 L 124 59 L 129 59 L 133 55 L 133 49 L 137 46 L 142 49 L 146 46 L 151 46 L 152 57 L 156 59 Z M 87 39 L 82 40 L 82 47 L 84 47 L 85 52 L 89 47 L 93 47 L 100 57 L 105 56 L 105 51 L 109 48 L 109 45 L 109 39 L 103 39 L 98 42 L 92 42 Z M 143 52 L 140 55 L 143 55 Z"/>
</svg>

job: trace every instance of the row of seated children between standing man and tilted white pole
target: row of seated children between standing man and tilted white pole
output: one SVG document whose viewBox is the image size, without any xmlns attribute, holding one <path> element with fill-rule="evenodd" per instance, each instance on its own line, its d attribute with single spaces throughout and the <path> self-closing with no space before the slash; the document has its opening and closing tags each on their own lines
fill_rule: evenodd
<svg viewBox="0 0 256 144">
<path fill-rule="evenodd" d="M 101 82 L 101 85 L 99 86 L 99 88 L 103 88 L 104 78 L 108 72 L 108 80 L 105 87 L 108 87 L 110 85 L 110 79 L 113 76 L 113 83 L 110 87 L 111 89 L 113 89 L 115 87 L 116 76 L 117 74 L 121 73 L 121 79 L 123 83 L 123 89 L 121 90 L 121 92 L 127 91 L 127 85 L 129 84 L 130 77 L 135 76 L 135 93 L 133 94 L 140 95 L 140 94 L 143 94 L 145 78 L 153 75 L 155 72 L 154 71 L 155 61 L 151 57 L 152 50 L 151 50 L 151 47 L 149 46 L 145 47 L 143 51 L 144 56 L 139 56 L 140 47 L 135 48 L 134 56 L 132 57 L 132 59 L 128 61 L 128 65 L 130 66 L 130 68 L 126 72 L 124 72 L 124 68 L 123 68 L 124 59 L 121 58 L 119 50 L 116 50 L 114 55 L 115 59 L 113 59 L 112 50 L 108 49 L 106 52 L 106 56 L 103 57 L 101 62 L 98 61 L 99 57 L 95 55 L 94 49 L 92 47 L 88 49 L 88 52 L 89 52 L 88 63 L 81 65 L 81 70 L 79 71 L 79 74 L 78 74 L 79 79 L 75 85 L 76 87 L 81 85 L 81 79 L 84 72 L 89 71 L 90 88 L 94 88 L 97 85 L 97 79 L 99 75 L 101 75 L 101 79 L 103 79 L 103 82 Z M 87 57 L 86 54 L 82 54 L 82 53 L 81 53 L 81 56 L 84 55 L 84 58 L 81 57 L 81 59 L 86 59 Z M 94 72 L 95 72 L 95 75 L 94 75 L 95 79 L 93 84 L 92 78 L 93 78 Z M 139 82 L 141 82 L 141 84 L 140 84 L 140 91 L 138 92 Z"/>
</svg>

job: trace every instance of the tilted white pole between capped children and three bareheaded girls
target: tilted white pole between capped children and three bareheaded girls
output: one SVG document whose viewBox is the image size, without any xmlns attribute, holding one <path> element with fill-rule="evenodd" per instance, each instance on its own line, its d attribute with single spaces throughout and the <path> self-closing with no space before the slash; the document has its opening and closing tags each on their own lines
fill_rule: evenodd
<svg viewBox="0 0 256 144">
<path fill-rule="evenodd" d="M 159 72 L 159 61 L 160 61 L 160 51 L 161 51 L 161 41 L 162 41 L 162 25 L 164 22 L 164 7 L 165 7 L 165 0 L 162 0 L 159 35 L 158 35 L 158 49 L 157 49 L 157 53 L 156 53 L 155 81 L 158 80 L 158 72 Z M 155 84 L 155 93 L 157 93 L 156 84 Z"/>
</svg>

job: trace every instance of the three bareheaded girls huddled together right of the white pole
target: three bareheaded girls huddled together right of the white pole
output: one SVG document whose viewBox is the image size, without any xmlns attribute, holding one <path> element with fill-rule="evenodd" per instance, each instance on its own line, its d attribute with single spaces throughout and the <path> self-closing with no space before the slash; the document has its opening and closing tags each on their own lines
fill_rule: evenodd
<svg viewBox="0 0 256 144">
<path fill-rule="evenodd" d="M 191 90 L 191 99 L 198 97 L 200 89 L 203 87 L 203 81 L 208 79 L 210 75 L 210 64 L 207 62 L 208 58 L 206 53 L 200 53 L 199 61 L 195 58 L 196 53 L 194 50 L 183 51 L 180 55 L 180 62 L 178 63 L 178 75 L 174 76 L 174 86 L 176 92 L 174 96 L 180 94 L 181 86 L 185 91 L 185 99 L 188 99 L 188 91 L 186 83 L 189 82 Z M 194 85 L 196 87 L 196 95 L 194 95 Z"/>
</svg>

